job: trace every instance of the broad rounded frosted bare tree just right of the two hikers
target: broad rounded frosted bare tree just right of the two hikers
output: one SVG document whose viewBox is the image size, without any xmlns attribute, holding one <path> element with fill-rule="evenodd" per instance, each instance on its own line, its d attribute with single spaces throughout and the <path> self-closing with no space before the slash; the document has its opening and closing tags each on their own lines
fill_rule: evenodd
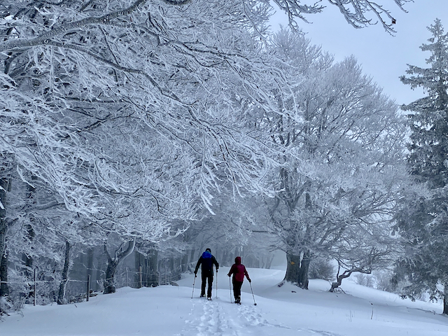
<svg viewBox="0 0 448 336">
<path fill-rule="evenodd" d="M 388 251 L 372 232 L 386 230 L 384 237 L 391 231 L 406 176 L 402 120 L 353 57 L 334 63 L 287 31 L 274 41 L 291 64 L 295 77 L 288 79 L 295 87 L 274 90 L 278 113 L 265 113 L 260 122 L 283 148 L 277 175 L 270 176 L 275 195 L 266 202 L 272 232 L 287 255 L 285 280 L 307 288 L 309 263 L 316 256 L 349 264 L 360 246 L 366 255 L 372 249 Z M 373 239 L 360 244 L 360 231 L 371 232 L 367 237 Z"/>
</svg>

